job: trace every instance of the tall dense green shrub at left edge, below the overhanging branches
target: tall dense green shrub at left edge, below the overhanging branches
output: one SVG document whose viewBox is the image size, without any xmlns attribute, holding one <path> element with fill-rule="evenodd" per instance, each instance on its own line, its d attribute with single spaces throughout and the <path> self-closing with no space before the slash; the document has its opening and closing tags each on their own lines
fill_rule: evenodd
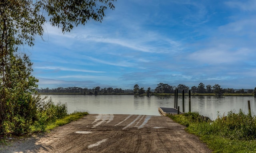
<svg viewBox="0 0 256 153">
<path fill-rule="evenodd" d="M 32 63 L 26 55 L 10 55 L 8 59 L 8 66 L 1 67 L 6 73 L 0 78 L 0 135 L 8 131 L 19 135 L 29 131 L 36 118 L 37 100 L 30 91 L 37 87 L 38 80 L 31 76 Z M 6 131 L 7 125 L 10 130 Z"/>
</svg>

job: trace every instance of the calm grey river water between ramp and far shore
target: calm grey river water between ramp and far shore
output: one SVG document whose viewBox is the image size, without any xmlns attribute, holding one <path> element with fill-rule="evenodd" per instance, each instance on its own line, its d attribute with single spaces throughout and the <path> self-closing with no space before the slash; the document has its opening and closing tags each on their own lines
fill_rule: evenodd
<svg viewBox="0 0 256 153">
<path fill-rule="evenodd" d="M 133 96 L 133 95 L 42 95 L 52 97 L 54 103 L 67 103 L 69 113 L 85 110 L 90 114 L 139 114 L 159 116 L 158 107 L 174 107 L 174 96 Z M 251 110 L 256 114 L 254 97 L 225 96 L 192 96 L 191 110 L 203 116 L 216 119 L 217 113 L 227 114 L 242 109 L 248 113 L 248 100 Z M 182 96 L 178 97 L 178 106 L 182 112 Z M 185 112 L 188 112 L 188 96 L 185 96 Z"/>
</svg>

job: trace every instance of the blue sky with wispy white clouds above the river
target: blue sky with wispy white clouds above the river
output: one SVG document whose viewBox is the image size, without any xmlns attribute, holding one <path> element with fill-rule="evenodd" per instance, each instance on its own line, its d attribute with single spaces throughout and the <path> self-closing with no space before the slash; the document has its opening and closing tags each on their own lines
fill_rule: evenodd
<svg viewBox="0 0 256 153">
<path fill-rule="evenodd" d="M 44 25 L 32 48 L 39 88 L 162 82 L 256 87 L 256 0 L 117 0 L 102 23 Z"/>
</svg>

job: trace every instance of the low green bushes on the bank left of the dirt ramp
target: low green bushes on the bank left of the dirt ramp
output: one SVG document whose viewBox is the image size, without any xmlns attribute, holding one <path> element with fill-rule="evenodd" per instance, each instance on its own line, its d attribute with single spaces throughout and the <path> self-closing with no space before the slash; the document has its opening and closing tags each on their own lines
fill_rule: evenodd
<svg viewBox="0 0 256 153">
<path fill-rule="evenodd" d="M 46 97 L 45 97 L 46 98 Z M 44 101 L 45 98 L 34 96 L 36 110 L 20 110 L 17 109 L 12 120 L 5 120 L 2 123 L 2 135 L 23 135 L 33 132 L 44 132 L 48 124 L 55 122 L 57 119 L 64 118 L 68 115 L 67 104 L 58 102 L 54 104 L 50 98 Z M 24 112 L 28 114 L 24 114 Z M 20 113 L 22 112 L 22 113 Z"/>
</svg>

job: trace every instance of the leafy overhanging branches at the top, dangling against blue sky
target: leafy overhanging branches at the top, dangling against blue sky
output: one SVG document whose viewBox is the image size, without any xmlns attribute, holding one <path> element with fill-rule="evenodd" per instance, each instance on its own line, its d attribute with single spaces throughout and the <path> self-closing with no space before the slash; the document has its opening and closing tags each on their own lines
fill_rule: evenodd
<svg viewBox="0 0 256 153">
<path fill-rule="evenodd" d="M 115 0 L 38 0 L 36 10 L 46 11 L 52 26 L 62 27 L 62 32 L 70 31 L 74 26 L 85 25 L 88 21 L 102 22 L 107 8 L 114 10 Z"/>
</svg>

